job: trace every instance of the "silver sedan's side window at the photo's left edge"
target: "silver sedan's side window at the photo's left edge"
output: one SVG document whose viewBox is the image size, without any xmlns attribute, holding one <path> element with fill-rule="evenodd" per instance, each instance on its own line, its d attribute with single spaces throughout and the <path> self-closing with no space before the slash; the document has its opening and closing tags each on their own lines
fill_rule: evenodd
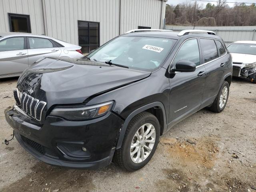
<svg viewBox="0 0 256 192">
<path fill-rule="evenodd" d="M 14 51 L 24 49 L 24 37 L 14 37 L 0 42 L 0 51 Z"/>
</svg>

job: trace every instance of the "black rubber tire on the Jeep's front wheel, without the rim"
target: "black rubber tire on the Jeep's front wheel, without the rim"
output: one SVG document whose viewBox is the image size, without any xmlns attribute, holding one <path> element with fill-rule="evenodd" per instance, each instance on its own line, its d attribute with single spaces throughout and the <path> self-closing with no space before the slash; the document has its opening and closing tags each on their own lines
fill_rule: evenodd
<svg viewBox="0 0 256 192">
<path fill-rule="evenodd" d="M 134 163 L 130 157 L 130 146 L 132 143 L 132 140 L 134 138 L 135 133 L 138 131 L 138 129 L 146 124 L 150 123 L 154 126 L 155 131 L 156 131 L 156 138 L 155 138 L 155 143 L 152 148 L 152 151 L 148 155 L 148 157 L 140 162 L 140 163 Z M 125 135 L 124 135 L 124 140 L 122 142 L 122 146 L 120 149 L 116 150 L 114 154 L 114 161 L 124 170 L 127 171 L 136 171 L 142 167 L 144 167 L 152 158 L 156 151 L 156 147 L 159 142 L 159 137 L 160 137 L 160 124 L 158 122 L 158 119 L 156 116 L 149 112 L 142 112 L 130 121 L 128 124 L 128 127 L 126 129 Z"/>
</svg>

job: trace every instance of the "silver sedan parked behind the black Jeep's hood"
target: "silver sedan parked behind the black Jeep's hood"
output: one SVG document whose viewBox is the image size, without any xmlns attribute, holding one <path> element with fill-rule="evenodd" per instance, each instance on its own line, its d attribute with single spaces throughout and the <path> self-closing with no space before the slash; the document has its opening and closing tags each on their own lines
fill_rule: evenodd
<svg viewBox="0 0 256 192">
<path fill-rule="evenodd" d="M 0 78 L 20 76 L 44 57 L 81 58 L 81 47 L 44 35 L 0 32 Z"/>
</svg>

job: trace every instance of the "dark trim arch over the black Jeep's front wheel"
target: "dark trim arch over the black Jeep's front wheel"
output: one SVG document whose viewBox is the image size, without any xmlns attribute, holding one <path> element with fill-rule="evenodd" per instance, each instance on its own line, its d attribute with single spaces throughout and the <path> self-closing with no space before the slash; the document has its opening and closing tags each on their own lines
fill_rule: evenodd
<svg viewBox="0 0 256 192">
<path fill-rule="evenodd" d="M 122 142 L 124 139 L 124 134 L 126 132 L 126 128 L 130 122 L 130 120 L 132 120 L 132 118 L 134 116 L 136 116 L 137 114 L 141 113 L 141 112 L 150 112 L 153 115 L 156 116 L 156 118 L 158 119 L 159 123 L 160 123 L 160 135 L 162 135 L 164 133 L 164 131 L 167 129 L 167 124 L 166 124 L 166 113 L 165 113 L 165 108 L 164 105 L 161 102 L 153 102 L 150 104 L 147 104 L 145 106 L 142 106 L 136 110 L 134 110 L 124 121 L 124 124 L 122 125 L 121 131 L 120 131 L 120 135 L 118 137 L 118 141 L 116 144 L 116 149 L 121 148 L 122 146 Z M 160 113 L 161 111 L 161 113 Z"/>
</svg>

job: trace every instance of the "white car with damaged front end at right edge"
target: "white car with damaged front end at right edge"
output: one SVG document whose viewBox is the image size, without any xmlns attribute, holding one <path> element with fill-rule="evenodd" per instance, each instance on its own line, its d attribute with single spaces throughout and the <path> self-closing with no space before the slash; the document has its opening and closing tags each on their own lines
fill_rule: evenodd
<svg viewBox="0 0 256 192">
<path fill-rule="evenodd" d="M 233 76 L 256 83 L 256 41 L 236 41 L 228 50 L 232 55 Z"/>
</svg>

